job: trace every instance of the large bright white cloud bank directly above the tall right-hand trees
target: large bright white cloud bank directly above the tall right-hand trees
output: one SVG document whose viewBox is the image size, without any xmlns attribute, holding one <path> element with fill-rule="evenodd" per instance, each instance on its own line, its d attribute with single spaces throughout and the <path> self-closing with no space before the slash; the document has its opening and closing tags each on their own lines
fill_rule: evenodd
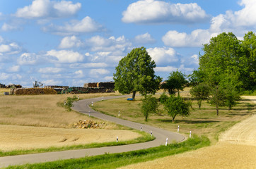
<svg viewBox="0 0 256 169">
<path fill-rule="evenodd" d="M 256 29 L 256 1 L 241 0 L 240 6 L 243 8 L 239 11 L 226 11 L 225 14 L 213 17 L 209 29 L 194 30 L 190 34 L 170 30 L 162 37 L 162 41 L 166 46 L 199 47 L 209 43 L 211 37 L 216 37 L 221 32 L 233 32 L 238 39 L 243 39 L 248 30 Z"/>
</svg>

